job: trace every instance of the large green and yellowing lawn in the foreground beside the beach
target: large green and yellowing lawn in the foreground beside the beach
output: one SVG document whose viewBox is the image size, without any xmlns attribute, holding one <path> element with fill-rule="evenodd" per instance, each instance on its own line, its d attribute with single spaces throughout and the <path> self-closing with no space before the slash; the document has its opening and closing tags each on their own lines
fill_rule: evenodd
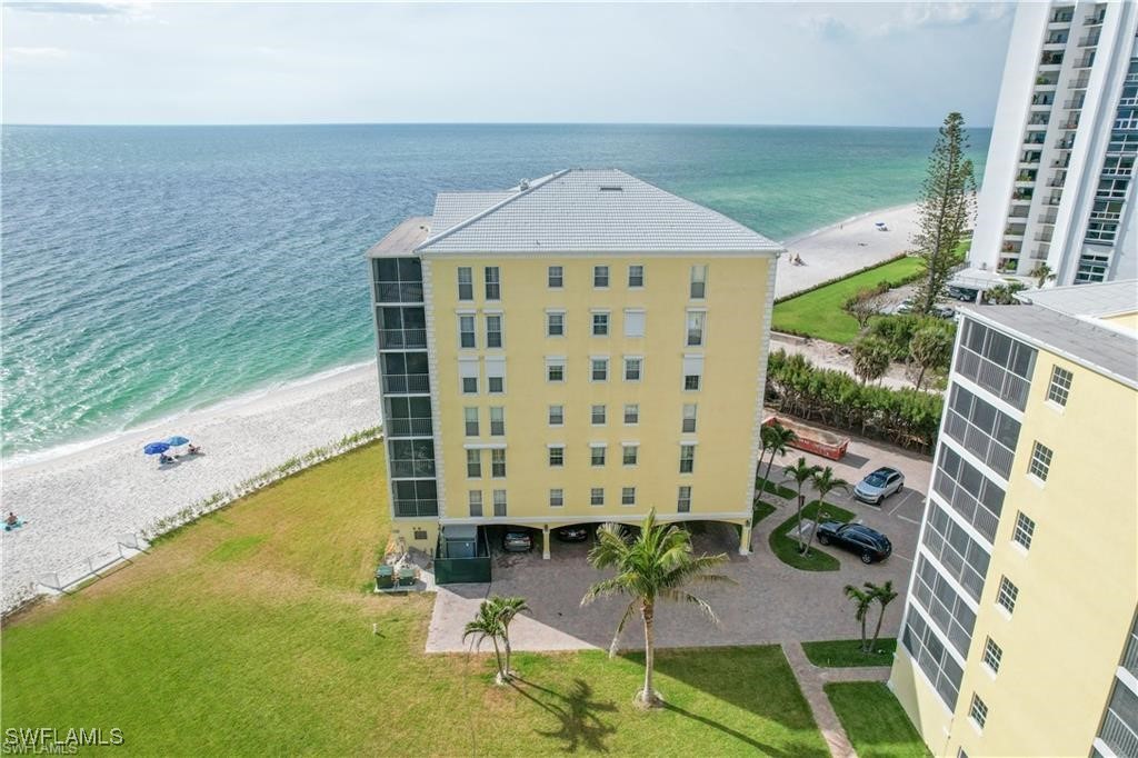
<svg viewBox="0 0 1138 758">
<path fill-rule="evenodd" d="M 378 444 L 337 458 L 15 619 L 0 728 L 119 728 L 124 755 L 827 755 L 777 646 L 659 651 L 655 712 L 637 656 L 518 654 L 511 687 L 492 654 L 424 656 L 434 596 L 361 591 L 382 471 Z"/>
</svg>

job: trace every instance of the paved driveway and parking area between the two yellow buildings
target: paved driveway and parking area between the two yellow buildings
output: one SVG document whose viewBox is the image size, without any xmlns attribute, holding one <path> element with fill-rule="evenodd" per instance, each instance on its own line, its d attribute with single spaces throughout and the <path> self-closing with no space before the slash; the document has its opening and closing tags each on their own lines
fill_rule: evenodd
<svg viewBox="0 0 1138 758">
<path fill-rule="evenodd" d="M 797 459 L 792 451 L 786 462 Z M 754 553 L 737 554 L 739 539 L 734 528 L 707 524 L 694 537 L 696 552 L 725 552 L 729 562 L 723 572 L 735 586 L 695 588 L 707 600 L 718 624 L 707 621 L 691 605 L 665 605 L 657 613 L 657 644 L 660 646 L 708 646 L 766 644 L 786 641 L 849 638 L 857 636 L 852 605 L 842 594 L 847 584 L 893 582 L 900 593 L 885 615 L 882 635 L 897 634 L 905 588 L 913 568 L 923 492 L 927 487 L 930 463 L 912 454 L 867 443 L 853 443 L 842 463 L 822 461 L 835 472 L 855 483 L 881 464 L 892 464 L 906 475 L 906 491 L 885 501 L 877 509 L 846 496 L 832 496 L 831 502 L 853 511 L 865 524 L 889 535 L 892 557 L 883 563 L 864 566 L 851 553 L 827 549 L 842 565 L 840 571 L 799 571 L 780 561 L 770 552 L 767 537 L 770 529 L 793 514 L 790 503 L 760 521 L 754 529 Z M 780 465 L 782 462 L 776 462 Z M 772 477 L 774 478 L 774 477 Z M 768 497 L 770 500 L 770 497 Z M 604 576 L 585 561 L 587 543 L 554 542 L 552 558 L 542 560 L 541 552 L 498 554 L 495 557 L 490 584 L 450 585 L 439 587 L 435 612 L 427 637 L 428 652 L 464 650 L 463 625 L 473 618 L 478 603 L 488 594 L 521 595 L 533 608 L 530 616 L 520 617 L 511 627 L 517 650 L 607 649 L 627 605 L 625 599 L 605 599 L 585 608 L 580 599 L 593 582 Z M 874 615 L 873 620 L 876 619 Z M 625 648 L 643 648 L 638 618 L 633 619 L 621 641 Z"/>
</svg>

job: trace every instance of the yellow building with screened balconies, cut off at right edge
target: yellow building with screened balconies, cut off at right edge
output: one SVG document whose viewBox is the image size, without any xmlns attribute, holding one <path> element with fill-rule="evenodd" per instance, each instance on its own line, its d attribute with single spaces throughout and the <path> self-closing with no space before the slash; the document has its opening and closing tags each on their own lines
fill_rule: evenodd
<svg viewBox="0 0 1138 758">
<path fill-rule="evenodd" d="M 1138 757 L 1138 281 L 963 311 L 890 686 L 937 756 Z"/>
</svg>

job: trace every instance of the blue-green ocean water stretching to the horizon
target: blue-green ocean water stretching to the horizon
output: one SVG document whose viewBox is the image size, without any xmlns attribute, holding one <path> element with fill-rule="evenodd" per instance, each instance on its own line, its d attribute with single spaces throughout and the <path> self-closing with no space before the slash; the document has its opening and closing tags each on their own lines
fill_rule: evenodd
<svg viewBox="0 0 1138 758">
<path fill-rule="evenodd" d="M 989 133 L 972 133 L 978 176 Z M 2 446 L 365 361 L 363 252 L 439 190 L 615 166 L 774 239 L 913 201 L 934 130 L 3 126 Z"/>
</svg>

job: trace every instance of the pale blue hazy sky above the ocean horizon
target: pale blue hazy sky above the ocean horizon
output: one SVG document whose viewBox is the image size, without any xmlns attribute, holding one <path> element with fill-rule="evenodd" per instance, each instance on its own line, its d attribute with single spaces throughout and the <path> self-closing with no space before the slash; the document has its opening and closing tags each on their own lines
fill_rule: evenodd
<svg viewBox="0 0 1138 758">
<path fill-rule="evenodd" d="M 3 120 L 990 125 L 973 3 L 8 2 Z"/>
</svg>

